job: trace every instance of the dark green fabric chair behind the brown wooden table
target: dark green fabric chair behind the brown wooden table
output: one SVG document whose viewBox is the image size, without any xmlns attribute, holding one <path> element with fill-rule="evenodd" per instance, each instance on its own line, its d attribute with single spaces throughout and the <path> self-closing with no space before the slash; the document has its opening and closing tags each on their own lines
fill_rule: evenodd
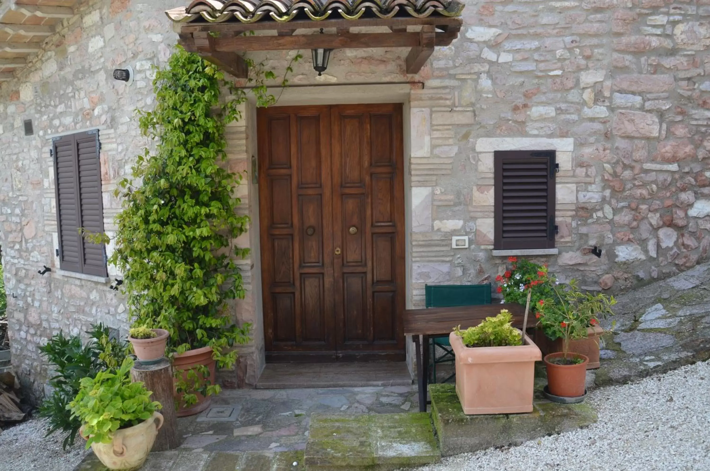
<svg viewBox="0 0 710 471">
<path fill-rule="evenodd" d="M 427 308 L 450 308 L 461 305 L 491 304 L 491 283 L 481 285 L 425 285 L 425 305 Z M 454 326 L 452 325 L 452 328 Z M 432 359 L 430 383 L 437 382 L 437 364 L 454 362 L 454 350 L 449 342 L 449 336 L 432 337 Z M 437 348 L 444 354 L 437 357 Z M 455 373 L 444 379 L 444 383 L 455 376 Z"/>
</svg>

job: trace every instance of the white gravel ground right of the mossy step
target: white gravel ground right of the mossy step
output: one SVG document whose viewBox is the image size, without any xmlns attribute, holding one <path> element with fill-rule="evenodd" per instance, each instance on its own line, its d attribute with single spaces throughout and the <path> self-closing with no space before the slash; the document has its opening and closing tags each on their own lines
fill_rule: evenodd
<svg viewBox="0 0 710 471">
<path fill-rule="evenodd" d="M 710 363 L 589 394 L 589 428 L 445 458 L 420 471 L 710 470 Z"/>
</svg>

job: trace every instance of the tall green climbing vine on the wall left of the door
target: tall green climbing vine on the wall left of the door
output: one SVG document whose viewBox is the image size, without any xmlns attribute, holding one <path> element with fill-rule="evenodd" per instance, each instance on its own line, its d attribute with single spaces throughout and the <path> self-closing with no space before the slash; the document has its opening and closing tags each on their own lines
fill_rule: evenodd
<svg viewBox="0 0 710 471">
<path fill-rule="evenodd" d="M 286 68 L 283 86 L 299 59 L 295 55 Z M 246 62 L 257 106 L 274 104 L 265 82 L 275 74 L 263 62 Z M 219 367 L 229 368 L 236 362 L 230 347 L 249 342 L 251 330 L 225 312 L 229 300 L 245 295 L 235 259 L 249 249 L 234 240 L 248 229 L 249 217 L 239 214 L 241 200 L 234 196 L 243 175 L 219 163 L 226 157 L 225 126 L 241 119 L 247 90 L 180 47 L 157 70 L 153 89 L 155 109 L 138 114 L 141 132 L 155 141 L 155 149 L 144 149 L 133 166 L 135 180 L 121 180 L 116 190 L 123 210 L 116 217 L 110 261 L 124 274 L 136 325 L 168 330 L 168 348 L 178 353 L 212 347 Z M 224 89 L 230 97 L 221 102 Z M 219 386 L 199 391 L 214 394 Z M 187 404 L 193 399 L 183 398 Z"/>
</svg>

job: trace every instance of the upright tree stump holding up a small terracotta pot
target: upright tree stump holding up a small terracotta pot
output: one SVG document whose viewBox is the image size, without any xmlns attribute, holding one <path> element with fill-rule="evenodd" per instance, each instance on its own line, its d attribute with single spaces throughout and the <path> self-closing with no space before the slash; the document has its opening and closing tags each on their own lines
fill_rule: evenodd
<svg viewBox="0 0 710 471">
<path fill-rule="evenodd" d="M 142 381 L 148 391 L 153 391 L 151 400 L 163 405 L 160 413 L 165 421 L 155 437 L 152 451 L 168 451 L 178 448 L 178 416 L 175 415 L 175 400 L 173 399 L 173 368 L 170 362 L 163 358 L 156 364 L 136 364 L 131 368 L 133 381 Z"/>
</svg>

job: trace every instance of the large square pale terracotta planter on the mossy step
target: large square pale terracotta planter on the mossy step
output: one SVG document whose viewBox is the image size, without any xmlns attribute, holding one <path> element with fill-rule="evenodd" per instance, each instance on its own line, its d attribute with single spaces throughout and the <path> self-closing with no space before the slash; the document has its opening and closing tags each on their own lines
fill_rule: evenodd
<svg viewBox="0 0 710 471">
<path fill-rule="evenodd" d="M 449 334 L 456 354 L 456 392 L 465 414 L 532 412 L 537 345 L 525 335 L 518 347 L 466 347 Z"/>
</svg>

